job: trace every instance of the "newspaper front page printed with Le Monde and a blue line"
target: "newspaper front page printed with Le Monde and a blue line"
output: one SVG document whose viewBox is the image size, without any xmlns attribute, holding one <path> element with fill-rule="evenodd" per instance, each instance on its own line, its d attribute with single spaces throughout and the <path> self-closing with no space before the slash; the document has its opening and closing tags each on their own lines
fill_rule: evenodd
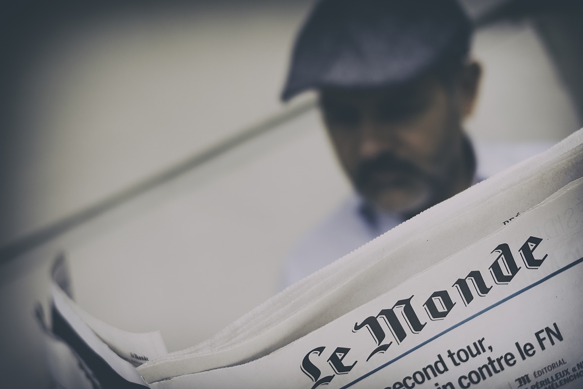
<svg viewBox="0 0 583 389">
<path fill-rule="evenodd" d="M 579 388 L 583 181 L 501 224 L 271 355 L 150 386 Z"/>
</svg>

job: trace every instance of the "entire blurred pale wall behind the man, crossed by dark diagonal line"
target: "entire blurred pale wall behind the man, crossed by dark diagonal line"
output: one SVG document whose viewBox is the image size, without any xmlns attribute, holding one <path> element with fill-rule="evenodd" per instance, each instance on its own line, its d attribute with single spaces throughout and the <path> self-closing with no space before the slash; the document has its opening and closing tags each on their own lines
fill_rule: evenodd
<svg viewBox="0 0 583 389">
<path fill-rule="evenodd" d="M 581 127 L 569 2 L 466 0 L 480 142 Z M 0 366 L 47 383 L 36 302 L 55 255 L 82 307 L 194 345 L 278 290 L 280 259 L 350 188 L 313 97 L 278 99 L 312 1 L 8 3 L 0 68 Z M 203 318 L 203 319 L 201 319 Z M 26 368 L 32 373 L 26 373 Z M 8 374 L 8 372 L 10 374 Z"/>
</svg>

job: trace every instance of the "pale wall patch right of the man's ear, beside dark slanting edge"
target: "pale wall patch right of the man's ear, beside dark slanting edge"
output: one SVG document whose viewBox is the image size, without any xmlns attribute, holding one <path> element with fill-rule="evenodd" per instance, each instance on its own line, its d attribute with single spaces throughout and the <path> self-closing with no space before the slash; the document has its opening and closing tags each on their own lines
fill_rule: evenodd
<svg viewBox="0 0 583 389">
<path fill-rule="evenodd" d="M 476 34 L 483 83 L 467 127 L 483 141 L 559 141 L 579 129 L 573 101 L 531 22 L 498 23 Z"/>
</svg>

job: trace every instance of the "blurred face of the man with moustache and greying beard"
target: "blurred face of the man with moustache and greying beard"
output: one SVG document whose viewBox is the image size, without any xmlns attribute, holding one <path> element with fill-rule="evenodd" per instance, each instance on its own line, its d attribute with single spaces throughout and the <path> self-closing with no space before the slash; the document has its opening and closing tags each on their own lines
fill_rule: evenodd
<svg viewBox="0 0 583 389">
<path fill-rule="evenodd" d="M 324 89 L 320 100 L 340 163 L 382 211 L 412 216 L 463 190 L 459 104 L 436 77 L 382 89 Z"/>
</svg>

